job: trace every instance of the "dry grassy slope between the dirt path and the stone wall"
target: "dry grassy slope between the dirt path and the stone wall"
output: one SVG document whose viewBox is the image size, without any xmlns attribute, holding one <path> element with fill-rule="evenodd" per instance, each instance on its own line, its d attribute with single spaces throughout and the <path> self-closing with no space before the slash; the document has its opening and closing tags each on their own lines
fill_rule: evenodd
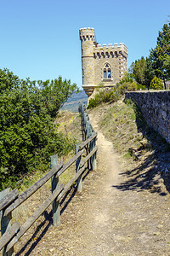
<svg viewBox="0 0 170 256">
<path fill-rule="evenodd" d="M 167 193 L 161 183 L 170 189 L 169 144 L 146 125 L 139 109 L 120 100 L 90 111 L 98 116 L 105 137 L 122 155 L 122 168 L 132 177 L 131 185 Z"/>
</svg>

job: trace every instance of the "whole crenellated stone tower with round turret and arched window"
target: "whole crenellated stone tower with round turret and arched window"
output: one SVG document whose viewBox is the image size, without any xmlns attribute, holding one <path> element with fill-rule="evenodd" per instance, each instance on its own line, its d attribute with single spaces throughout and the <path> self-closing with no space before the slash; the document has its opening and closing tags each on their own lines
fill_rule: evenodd
<svg viewBox="0 0 170 256">
<path fill-rule="evenodd" d="M 120 82 L 127 71 L 127 46 L 123 43 L 98 44 L 94 38 L 94 28 L 80 29 L 82 46 L 82 88 L 90 96 L 94 88 L 103 83 L 112 87 Z"/>
</svg>

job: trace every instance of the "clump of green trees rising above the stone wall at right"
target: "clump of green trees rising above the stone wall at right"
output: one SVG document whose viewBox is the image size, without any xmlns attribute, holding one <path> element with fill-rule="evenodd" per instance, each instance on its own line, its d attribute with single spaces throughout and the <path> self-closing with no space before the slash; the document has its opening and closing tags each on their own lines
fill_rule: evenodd
<svg viewBox="0 0 170 256">
<path fill-rule="evenodd" d="M 156 78 L 164 82 L 170 79 L 170 23 L 164 24 L 162 31 L 159 32 L 156 48 L 150 50 L 150 55 L 144 59 L 134 61 L 130 67 L 133 79 L 138 84 L 150 88 L 150 82 Z"/>
</svg>

